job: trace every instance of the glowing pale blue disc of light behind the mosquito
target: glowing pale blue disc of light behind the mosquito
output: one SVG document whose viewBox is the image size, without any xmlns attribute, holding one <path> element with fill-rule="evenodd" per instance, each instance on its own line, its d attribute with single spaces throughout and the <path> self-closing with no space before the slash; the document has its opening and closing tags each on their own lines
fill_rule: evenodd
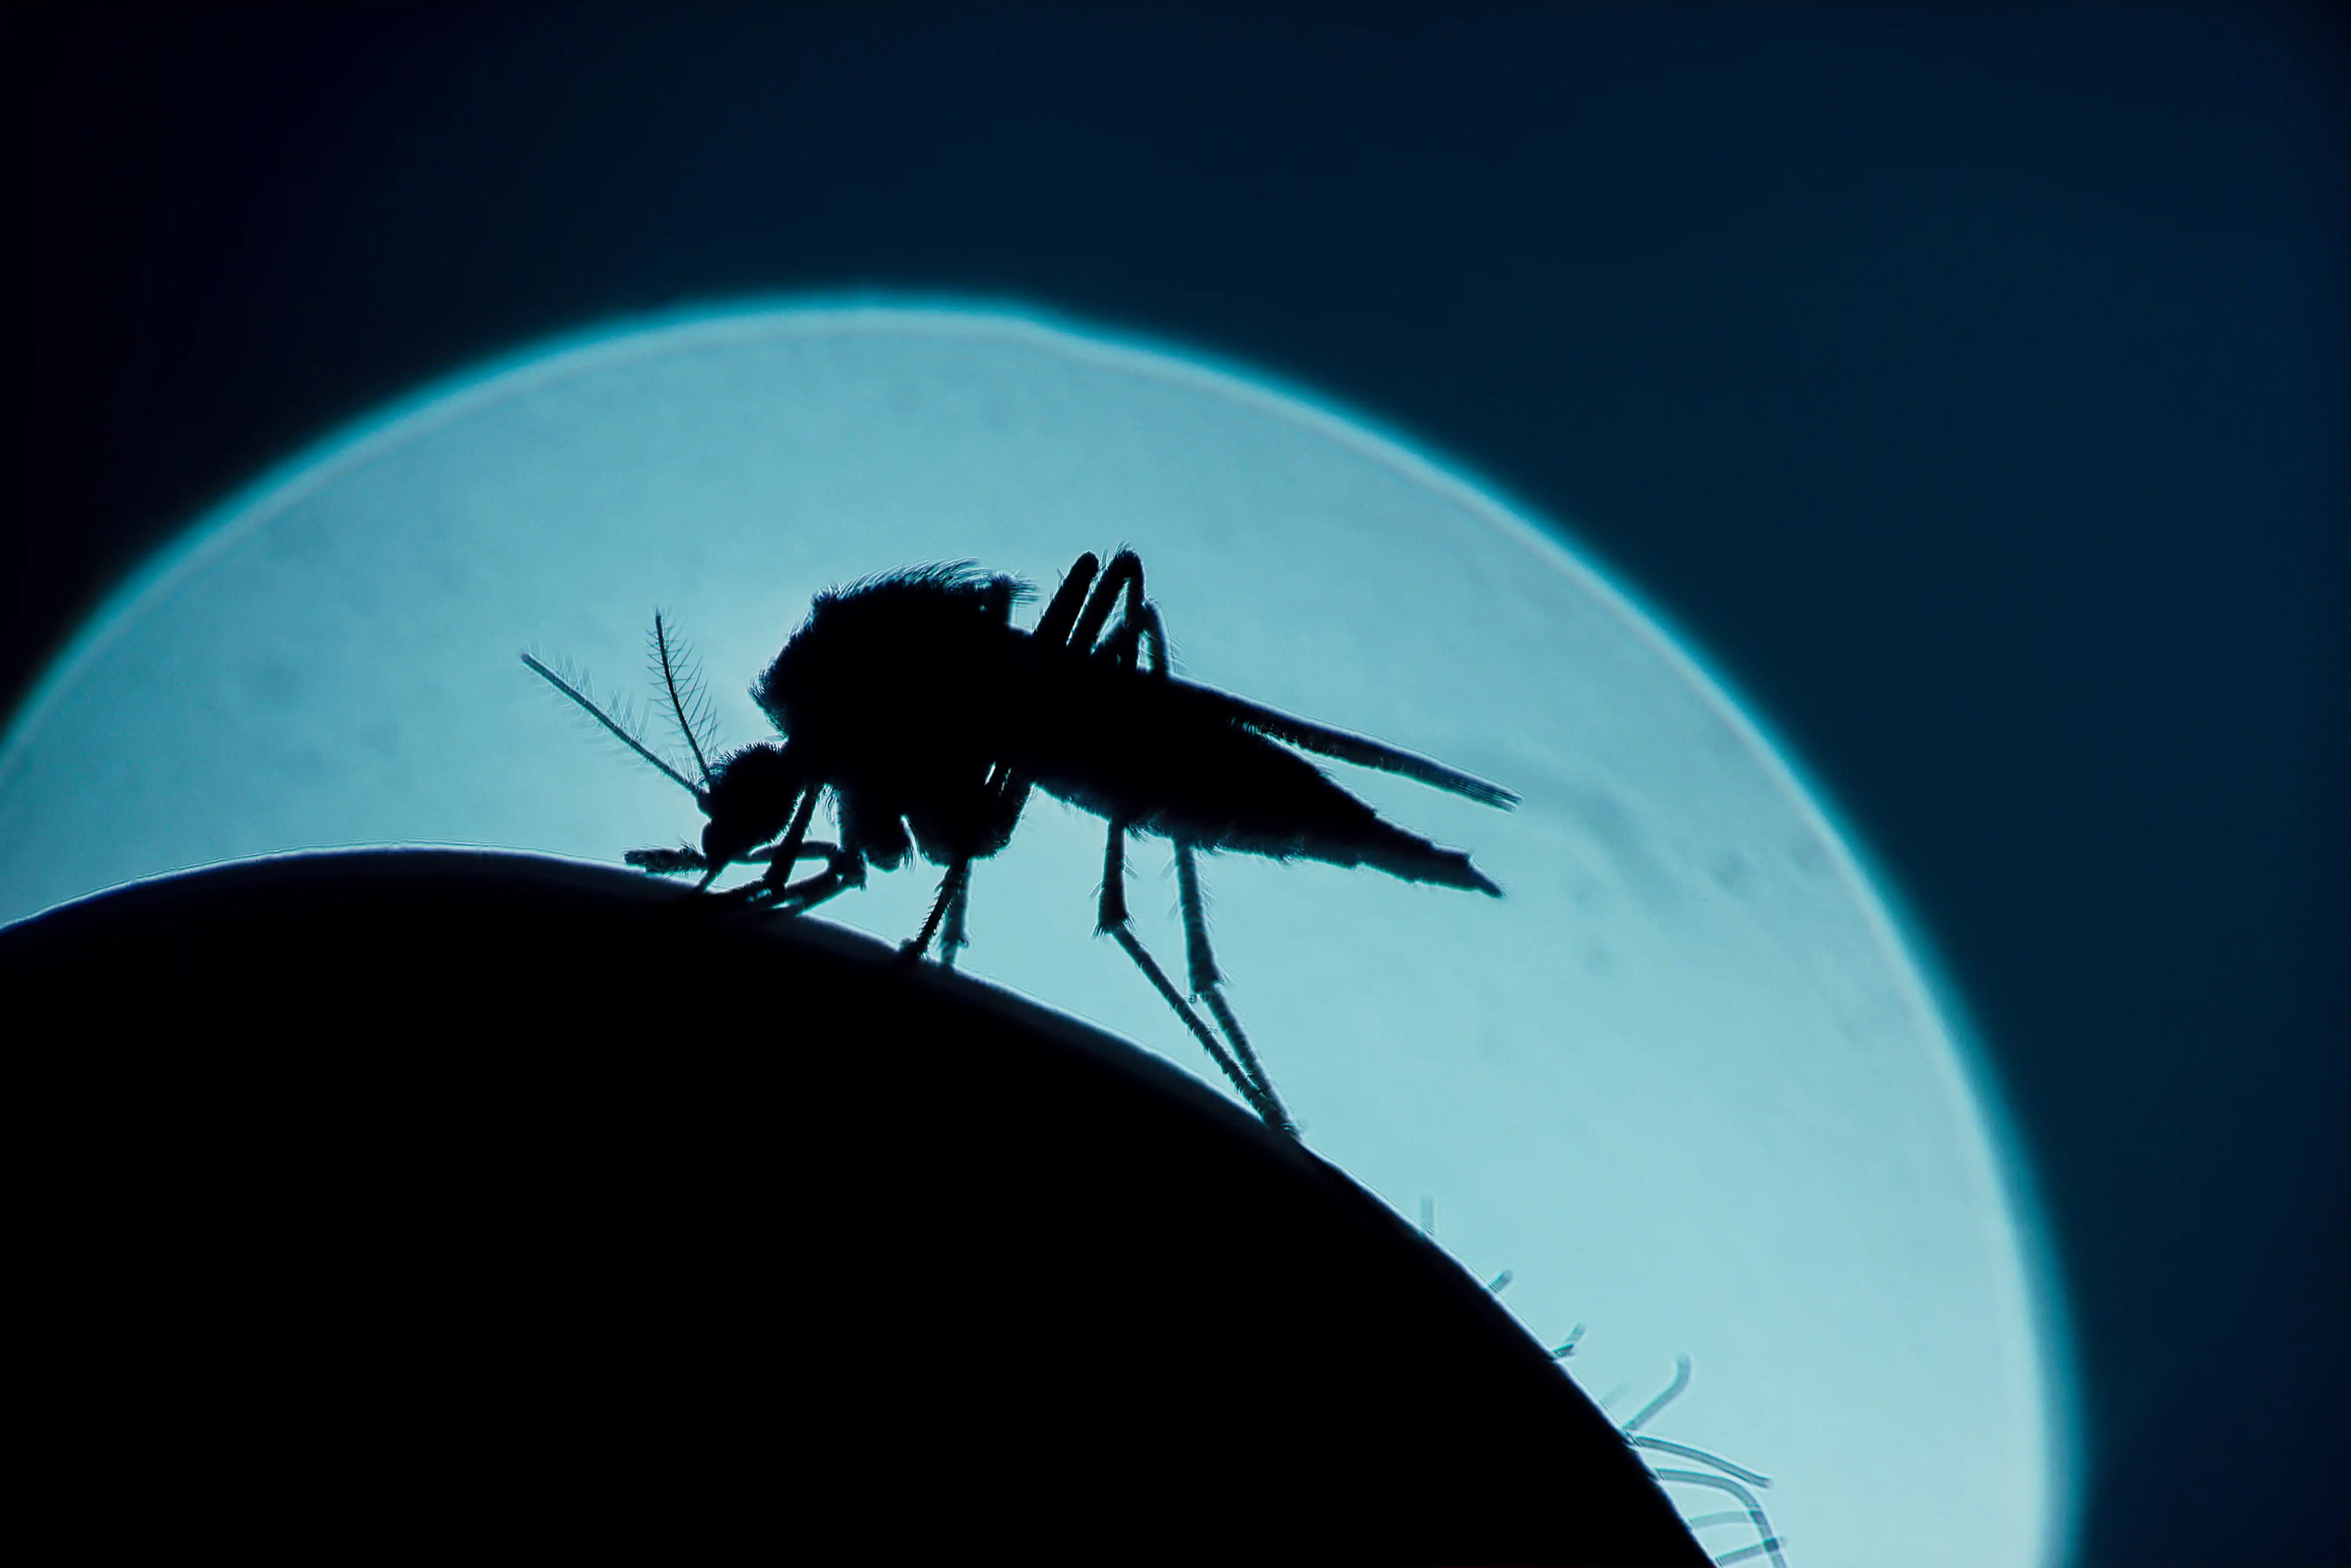
<svg viewBox="0 0 2351 1568">
<path fill-rule="evenodd" d="M 2062 1554 L 2069 1359 L 2029 1182 L 1850 839 L 1554 529 L 1199 360 L 1002 310 L 764 306 L 433 388 L 202 520 L 56 663 L 0 745 L 0 919 L 334 844 L 677 842 L 691 802 L 520 649 L 632 686 L 658 604 L 743 743 L 741 684 L 818 588 L 957 557 L 1051 588 L 1121 541 L 1194 679 L 1526 797 L 1340 769 L 1500 903 L 1208 863 L 1310 1145 L 1408 1215 L 1434 1199 L 1547 1342 L 1585 1324 L 1570 1366 L 1620 1418 L 1695 1354 L 1648 1432 L 1770 1472 L 1799 1561 Z M 1213 1077 L 1089 940 L 1098 856 L 1098 823 L 1032 806 L 976 877 L 969 969 Z M 1173 954 L 1161 858 L 1131 889 Z M 828 914 L 896 938 L 929 893 L 900 872 Z"/>
</svg>

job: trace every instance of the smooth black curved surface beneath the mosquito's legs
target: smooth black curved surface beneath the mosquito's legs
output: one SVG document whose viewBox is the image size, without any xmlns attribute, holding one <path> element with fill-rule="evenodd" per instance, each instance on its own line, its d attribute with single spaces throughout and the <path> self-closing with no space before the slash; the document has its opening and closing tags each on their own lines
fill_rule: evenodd
<svg viewBox="0 0 2351 1568">
<path fill-rule="evenodd" d="M 1354 1182 L 813 919 L 310 856 L 0 980 L 16 1561 L 1707 1561 Z"/>
</svg>

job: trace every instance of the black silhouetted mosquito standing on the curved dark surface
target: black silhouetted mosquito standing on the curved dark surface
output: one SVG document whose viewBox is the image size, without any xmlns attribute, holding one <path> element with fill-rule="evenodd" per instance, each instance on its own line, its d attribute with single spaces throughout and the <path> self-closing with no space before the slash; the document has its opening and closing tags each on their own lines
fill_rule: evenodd
<svg viewBox="0 0 2351 1568">
<path fill-rule="evenodd" d="M 966 945 L 971 867 L 1011 842 L 1032 790 L 1107 823 L 1096 933 L 1133 959 L 1218 1070 L 1267 1126 L 1298 1128 L 1223 994 L 1199 886 L 1201 851 L 1373 867 L 1404 882 L 1500 898 L 1458 849 L 1439 849 L 1378 816 L 1300 752 L 1396 773 L 1486 806 L 1516 795 L 1427 757 L 1180 679 L 1166 628 L 1143 592 L 1143 562 L 1079 555 L 1027 630 L 1032 597 L 971 562 L 910 567 L 820 592 L 809 618 L 752 684 L 781 743 L 715 755 L 710 705 L 668 623 L 654 616 L 654 670 L 694 776 L 656 755 L 628 712 L 595 703 L 585 679 L 522 661 L 644 762 L 694 795 L 708 818 L 701 849 L 637 849 L 628 863 L 696 875 L 764 865 L 717 893 L 802 914 L 896 870 L 910 853 L 945 870 L 922 931 L 905 943 L 955 966 Z M 809 837 L 818 799 L 839 842 Z M 1187 990 L 1143 947 L 1126 912 L 1128 835 L 1168 839 L 1183 910 Z M 804 860 L 820 870 L 795 879 Z M 1192 1006 L 1199 1001 L 1211 1027 Z"/>
</svg>

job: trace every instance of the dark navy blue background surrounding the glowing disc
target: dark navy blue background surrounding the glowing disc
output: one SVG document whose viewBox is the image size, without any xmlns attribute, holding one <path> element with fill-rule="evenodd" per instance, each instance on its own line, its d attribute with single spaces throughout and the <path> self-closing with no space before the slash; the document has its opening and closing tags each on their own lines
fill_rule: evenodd
<svg viewBox="0 0 2351 1568">
<path fill-rule="evenodd" d="M 0 691 L 256 468 L 611 313 L 980 294 L 1272 369 L 1573 520 L 1893 872 L 2041 1166 L 2083 1559 L 2351 1559 L 2320 9 L 16 26 Z"/>
</svg>

